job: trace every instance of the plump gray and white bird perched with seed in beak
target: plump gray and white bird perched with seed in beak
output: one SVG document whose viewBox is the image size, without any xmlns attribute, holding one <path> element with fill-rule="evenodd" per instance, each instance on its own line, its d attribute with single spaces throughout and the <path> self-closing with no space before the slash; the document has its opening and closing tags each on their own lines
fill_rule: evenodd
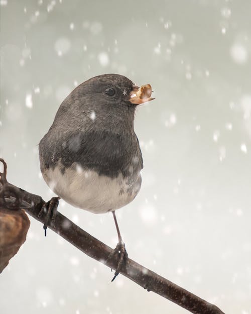
<svg viewBox="0 0 251 314">
<path fill-rule="evenodd" d="M 136 197 L 142 183 L 135 112 L 139 104 L 154 99 L 151 94 L 150 84 L 140 87 L 120 74 L 92 77 L 63 100 L 39 143 L 41 173 L 58 195 L 44 208 L 45 235 L 60 198 L 94 214 L 112 212 L 120 254 L 112 280 L 127 258 L 115 211 Z"/>
</svg>

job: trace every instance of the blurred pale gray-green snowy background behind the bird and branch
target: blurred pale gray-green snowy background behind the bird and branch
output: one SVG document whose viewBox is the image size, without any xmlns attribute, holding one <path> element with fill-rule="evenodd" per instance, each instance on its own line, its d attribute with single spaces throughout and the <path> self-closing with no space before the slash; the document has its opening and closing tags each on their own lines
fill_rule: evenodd
<svg viewBox="0 0 251 314">
<path fill-rule="evenodd" d="M 1 0 L 1 157 L 10 182 L 48 200 L 38 143 L 64 97 L 102 73 L 151 83 L 135 130 L 143 185 L 117 211 L 132 259 L 251 314 L 249 0 Z M 74 123 L 74 122 L 73 122 Z M 59 211 L 109 246 L 111 214 Z M 31 219 L 1 274 L 2 313 L 187 313 Z"/>
</svg>

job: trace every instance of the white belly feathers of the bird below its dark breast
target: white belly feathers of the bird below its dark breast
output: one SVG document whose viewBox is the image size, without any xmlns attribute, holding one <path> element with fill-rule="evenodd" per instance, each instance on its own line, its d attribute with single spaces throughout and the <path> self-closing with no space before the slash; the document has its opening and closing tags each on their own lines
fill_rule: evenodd
<svg viewBox="0 0 251 314">
<path fill-rule="evenodd" d="M 100 214 L 117 210 L 130 203 L 141 187 L 141 174 L 123 178 L 98 175 L 95 171 L 82 169 L 78 164 L 65 169 L 60 166 L 42 171 L 49 187 L 71 205 Z"/>
</svg>

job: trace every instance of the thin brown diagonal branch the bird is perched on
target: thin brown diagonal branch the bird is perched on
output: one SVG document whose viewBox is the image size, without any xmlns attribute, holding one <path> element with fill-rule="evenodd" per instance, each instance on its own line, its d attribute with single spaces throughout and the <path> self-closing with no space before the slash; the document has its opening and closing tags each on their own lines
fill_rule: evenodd
<svg viewBox="0 0 251 314">
<path fill-rule="evenodd" d="M 0 173 L 1 207 L 6 206 L 17 210 L 24 208 L 33 218 L 44 223 L 46 213 L 43 213 L 40 217 L 38 214 L 45 201 L 41 196 L 29 193 L 10 184 L 6 179 L 7 165 L 3 159 L 0 158 L 0 161 L 4 164 L 4 172 Z M 92 237 L 59 212 L 56 214 L 54 226 L 49 224 L 48 227 L 89 257 L 94 258 L 109 268 L 116 269 L 118 257 L 112 256 L 113 249 Z M 131 259 L 128 259 L 127 264 L 121 267 L 120 274 L 133 280 L 148 291 L 153 291 L 194 314 L 224 314 L 217 306 Z"/>
</svg>

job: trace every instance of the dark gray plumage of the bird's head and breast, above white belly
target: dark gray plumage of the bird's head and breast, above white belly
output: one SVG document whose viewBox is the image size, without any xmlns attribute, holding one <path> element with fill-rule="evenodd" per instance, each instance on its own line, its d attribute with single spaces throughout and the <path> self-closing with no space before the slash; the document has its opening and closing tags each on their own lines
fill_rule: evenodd
<svg viewBox="0 0 251 314">
<path fill-rule="evenodd" d="M 111 178 L 143 168 L 134 132 L 136 106 L 129 99 L 132 81 L 118 74 L 99 75 L 76 87 L 62 102 L 55 120 L 39 144 L 41 168 L 61 171 L 77 162 Z M 104 89 L 115 88 L 114 97 Z M 127 95 L 123 95 L 126 91 Z"/>
</svg>

